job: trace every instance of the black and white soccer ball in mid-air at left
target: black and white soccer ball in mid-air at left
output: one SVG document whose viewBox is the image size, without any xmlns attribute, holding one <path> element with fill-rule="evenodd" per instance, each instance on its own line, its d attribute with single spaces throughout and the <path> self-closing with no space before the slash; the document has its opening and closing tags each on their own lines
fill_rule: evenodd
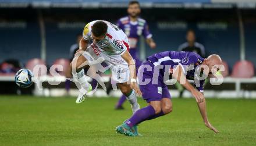
<svg viewBox="0 0 256 146">
<path fill-rule="evenodd" d="M 15 75 L 15 83 L 22 88 L 28 88 L 33 84 L 33 73 L 29 69 L 20 69 Z"/>
</svg>

